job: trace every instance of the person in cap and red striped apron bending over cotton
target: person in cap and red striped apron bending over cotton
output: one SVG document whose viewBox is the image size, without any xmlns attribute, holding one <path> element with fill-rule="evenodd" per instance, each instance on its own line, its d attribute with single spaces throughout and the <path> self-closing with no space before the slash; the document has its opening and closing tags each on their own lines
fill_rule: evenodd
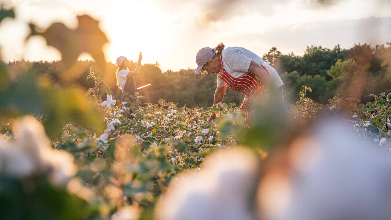
<svg viewBox="0 0 391 220">
<path fill-rule="evenodd" d="M 228 47 L 224 50 L 223 43 L 214 49 L 204 47 L 197 53 L 195 62 L 198 65 L 195 74 L 199 72 L 217 74 L 213 105 L 222 101 L 227 85 L 231 90 L 244 94 L 245 97 L 240 105 L 244 119 L 248 119 L 253 112 L 252 99 L 267 93 L 264 85 L 275 88 L 284 85 L 269 62 L 265 62 L 243 47 Z M 208 122 L 215 118 L 216 114 L 212 113 Z"/>
</svg>

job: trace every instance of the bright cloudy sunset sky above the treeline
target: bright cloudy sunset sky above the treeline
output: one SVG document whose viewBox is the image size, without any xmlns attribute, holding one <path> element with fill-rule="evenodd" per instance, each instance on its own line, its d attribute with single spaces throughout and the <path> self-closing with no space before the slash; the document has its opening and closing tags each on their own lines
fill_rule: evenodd
<svg viewBox="0 0 391 220">
<path fill-rule="evenodd" d="M 160 63 L 165 70 L 195 69 L 203 47 L 245 47 L 259 56 L 277 47 L 302 55 L 307 46 L 350 48 L 391 42 L 391 0 L 3 0 L 16 19 L 0 24 L 1 59 L 60 60 L 40 36 L 24 42 L 27 23 L 46 29 L 54 22 L 77 27 L 75 16 L 100 21 L 109 43 L 106 60 L 118 56 Z M 79 59 L 88 59 L 82 54 Z"/>
</svg>

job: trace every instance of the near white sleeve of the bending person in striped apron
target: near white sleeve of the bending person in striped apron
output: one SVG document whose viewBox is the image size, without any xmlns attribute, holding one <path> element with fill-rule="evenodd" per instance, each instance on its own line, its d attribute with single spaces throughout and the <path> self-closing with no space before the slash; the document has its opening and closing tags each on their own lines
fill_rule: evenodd
<svg viewBox="0 0 391 220">
<path fill-rule="evenodd" d="M 248 72 L 251 63 L 251 58 L 242 54 L 239 49 L 227 51 L 223 59 L 232 70 L 239 72 Z"/>
</svg>

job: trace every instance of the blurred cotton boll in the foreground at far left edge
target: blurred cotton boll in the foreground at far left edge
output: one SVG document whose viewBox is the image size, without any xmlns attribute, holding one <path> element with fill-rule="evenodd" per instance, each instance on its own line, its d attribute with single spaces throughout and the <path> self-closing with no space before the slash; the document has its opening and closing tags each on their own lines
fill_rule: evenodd
<svg viewBox="0 0 391 220">
<path fill-rule="evenodd" d="M 74 157 L 51 148 L 42 124 L 31 116 L 17 121 L 15 140 L 0 141 L 0 170 L 11 177 L 48 174 L 56 185 L 64 185 L 76 174 Z"/>
</svg>

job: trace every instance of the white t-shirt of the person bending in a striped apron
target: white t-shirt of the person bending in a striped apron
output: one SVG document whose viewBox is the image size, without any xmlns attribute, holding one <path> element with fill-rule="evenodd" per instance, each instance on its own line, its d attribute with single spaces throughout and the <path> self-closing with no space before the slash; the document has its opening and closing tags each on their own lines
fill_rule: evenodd
<svg viewBox="0 0 391 220">
<path fill-rule="evenodd" d="M 262 58 L 248 49 L 243 47 L 228 47 L 227 49 L 222 50 L 221 55 L 224 69 L 233 78 L 239 78 L 246 75 L 248 73 L 251 60 L 253 60 L 256 63 L 262 64 L 269 71 L 271 80 L 275 83 L 277 88 L 284 85 L 280 75 L 278 75 L 277 71 L 269 64 L 269 62 L 265 63 Z M 220 74 L 217 74 L 217 87 L 223 87 L 227 83 L 219 76 Z"/>
</svg>

